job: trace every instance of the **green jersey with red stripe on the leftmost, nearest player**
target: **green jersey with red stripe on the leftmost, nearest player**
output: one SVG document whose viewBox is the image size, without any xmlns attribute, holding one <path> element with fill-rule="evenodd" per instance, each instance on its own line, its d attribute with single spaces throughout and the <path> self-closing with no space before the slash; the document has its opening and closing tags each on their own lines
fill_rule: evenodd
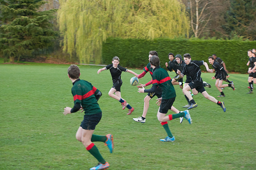
<svg viewBox="0 0 256 170">
<path fill-rule="evenodd" d="M 74 97 L 74 104 L 80 103 L 84 108 L 85 115 L 93 115 L 101 112 L 100 106 L 94 95 L 94 93 L 98 93 L 99 90 L 90 82 L 80 79 L 78 79 L 78 81 L 76 80 L 71 92 Z"/>
</svg>

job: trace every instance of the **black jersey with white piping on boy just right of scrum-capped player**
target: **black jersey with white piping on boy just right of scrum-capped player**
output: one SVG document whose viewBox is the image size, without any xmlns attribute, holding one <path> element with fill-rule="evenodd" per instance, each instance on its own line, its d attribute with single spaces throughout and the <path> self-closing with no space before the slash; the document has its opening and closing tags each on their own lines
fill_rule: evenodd
<svg viewBox="0 0 256 170">
<path fill-rule="evenodd" d="M 181 74 L 190 76 L 192 81 L 203 81 L 201 76 L 200 66 L 204 65 L 204 61 L 193 60 L 188 65 L 184 65 L 184 70 Z"/>
</svg>

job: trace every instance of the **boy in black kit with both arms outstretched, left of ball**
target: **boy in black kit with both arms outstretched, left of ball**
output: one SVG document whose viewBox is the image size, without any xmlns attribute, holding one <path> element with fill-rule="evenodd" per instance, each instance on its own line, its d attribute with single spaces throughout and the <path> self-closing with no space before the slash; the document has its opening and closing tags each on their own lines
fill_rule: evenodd
<svg viewBox="0 0 256 170">
<path fill-rule="evenodd" d="M 125 68 L 119 66 L 118 65 L 119 62 L 120 62 L 119 58 L 117 56 L 115 56 L 112 59 L 112 64 L 105 66 L 102 69 L 99 69 L 97 73 L 99 74 L 103 70 L 110 71 L 111 76 L 112 76 L 113 86 L 109 90 L 108 95 L 110 97 L 118 100 L 122 104 L 123 110 L 125 107 L 127 107 L 129 109 L 127 115 L 130 115 L 133 112 L 134 108 L 132 108 L 132 106 L 130 106 L 130 104 L 128 104 L 126 102 L 126 100 L 122 99 L 122 97 L 121 97 L 121 85 L 123 84 L 123 81 L 121 80 L 121 73 L 122 73 L 122 71 L 132 73 L 136 77 L 138 77 L 139 74 L 133 72 L 132 70 L 128 70 L 128 69 L 125 69 Z M 113 94 L 113 93 L 115 93 L 115 94 Z"/>
</svg>

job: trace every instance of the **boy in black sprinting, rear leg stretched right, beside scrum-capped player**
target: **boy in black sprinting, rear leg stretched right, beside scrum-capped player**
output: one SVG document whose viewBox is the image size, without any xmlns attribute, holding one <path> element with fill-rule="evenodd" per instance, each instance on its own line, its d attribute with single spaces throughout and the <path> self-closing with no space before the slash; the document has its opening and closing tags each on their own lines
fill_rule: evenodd
<svg viewBox="0 0 256 170">
<path fill-rule="evenodd" d="M 186 65 L 184 66 L 184 70 L 182 72 L 178 70 L 177 73 L 180 75 L 180 77 L 184 77 L 184 75 L 188 75 L 192 78 L 192 82 L 183 88 L 183 93 L 188 97 L 188 99 L 191 102 L 191 106 L 188 109 L 197 107 L 195 100 L 193 100 L 191 94 L 189 93 L 189 90 L 192 89 L 192 92 L 194 95 L 198 94 L 199 92 L 202 93 L 202 95 L 205 98 L 218 104 L 223 109 L 223 111 L 226 112 L 224 102 L 223 101 L 220 102 L 216 100 L 214 97 L 210 96 L 204 89 L 203 80 L 201 78 L 200 66 L 204 65 L 206 70 L 212 73 L 212 70 L 209 69 L 208 64 L 204 61 L 196 61 L 196 60 L 191 61 L 190 54 L 184 54 L 183 57 Z"/>
</svg>

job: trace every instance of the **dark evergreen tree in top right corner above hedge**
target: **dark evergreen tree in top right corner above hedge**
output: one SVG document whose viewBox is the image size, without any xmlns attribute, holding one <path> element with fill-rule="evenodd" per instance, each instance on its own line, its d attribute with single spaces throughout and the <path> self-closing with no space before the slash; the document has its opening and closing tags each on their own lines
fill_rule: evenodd
<svg viewBox="0 0 256 170">
<path fill-rule="evenodd" d="M 229 38 L 243 36 L 244 38 L 255 40 L 254 27 L 256 19 L 256 4 L 252 0 L 231 0 L 231 7 L 225 15 L 226 24 L 222 27 Z M 254 35 L 252 35 L 254 34 Z"/>
</svg>

